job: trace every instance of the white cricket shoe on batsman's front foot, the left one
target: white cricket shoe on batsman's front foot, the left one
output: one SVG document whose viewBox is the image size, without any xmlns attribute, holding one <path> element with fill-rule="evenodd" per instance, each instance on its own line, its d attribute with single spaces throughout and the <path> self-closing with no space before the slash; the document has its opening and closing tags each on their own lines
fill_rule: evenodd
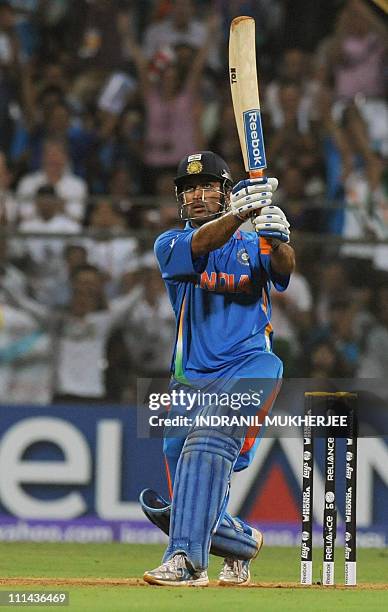
<svg viewBox="0 0 388 612">
<path fill-rule="evenodd" d="M 161 586 L 208 586 L 207 571 L 196 572 L 186 555 L 178 553 L 150 572 L 145 572 L 143 580 L 148 584 Z"/>
</svg>

